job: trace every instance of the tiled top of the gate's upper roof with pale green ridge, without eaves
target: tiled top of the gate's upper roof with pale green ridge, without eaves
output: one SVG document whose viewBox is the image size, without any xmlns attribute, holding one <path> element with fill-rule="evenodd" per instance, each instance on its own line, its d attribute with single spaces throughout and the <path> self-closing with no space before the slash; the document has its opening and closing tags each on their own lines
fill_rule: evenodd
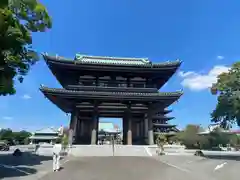
<svg viewBox="0 0 240 180">
<path fill-rule="evenodd" d="M 75 60 L 61 57 L 49 56 L 43 54 L 46 61 L 62 62 L 67 64 L 98 64 L 98 65 L 120 65 L 120 66 L 134 66 L 142 68 L 161 68 L 161 67 L 178 67 L 182 61 L 166 61 L 161 63 L 152 63 L 147 58 L 118 58 L 118 57 L 102 57 L 102 56 L 86 56 L 77 55 Z"/>
</svg>

